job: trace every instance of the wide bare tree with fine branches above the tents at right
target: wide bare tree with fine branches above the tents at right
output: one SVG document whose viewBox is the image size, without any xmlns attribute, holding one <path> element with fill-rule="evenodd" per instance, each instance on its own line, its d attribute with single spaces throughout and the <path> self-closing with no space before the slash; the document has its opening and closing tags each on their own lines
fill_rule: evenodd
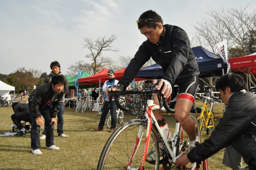
<svg viewBox="0 0 256 170">
<path fill-rule="evenodd" d="M 216 43 L 229 41 L 231 57 L 245 56 L 256 51 L 256 12 L 248 12 L 247 6 L 240 8 L 210 9 L 208 17 L 197 22 L 191 44 L 202 46 L 217 54 Z M 251 75 L 255 79 L 254 75 Z M 216 79 L 200 79 L 206 84 L 215 84 Z M 252 81 L 252 80 L 251 80 Z"/>
</svg>

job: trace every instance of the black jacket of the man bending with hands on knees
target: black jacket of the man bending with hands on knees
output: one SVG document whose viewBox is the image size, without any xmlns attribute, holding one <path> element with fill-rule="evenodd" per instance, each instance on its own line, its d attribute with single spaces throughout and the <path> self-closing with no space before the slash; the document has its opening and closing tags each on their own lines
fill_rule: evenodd
<svg viewBox="0 0 256 170">
<path fill-rule="evenodd" d="M 28 102 L 31 103 L 31 111 L 34 117 L 37 118 L 40 116 L 39 108 L 52 104 L 52 111 L 50 114 L 55 118 L 60 110 L 63 94 L 63 91 L 61 91 L 59 94 L 56 93 L 52 88 L 52 84 L 50 83 L 38 86 L 31 92 L 28 98 Z"/>
</svg>

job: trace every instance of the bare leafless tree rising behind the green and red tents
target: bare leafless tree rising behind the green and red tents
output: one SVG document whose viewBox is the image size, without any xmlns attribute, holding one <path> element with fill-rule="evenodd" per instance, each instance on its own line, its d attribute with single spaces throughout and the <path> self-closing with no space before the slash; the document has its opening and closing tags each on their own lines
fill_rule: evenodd
<svg viewBox="0 0 256 170">
<path fill-rule="evenodd" d="M 106 38 L 105 35 L 103 38 L 98 37 L 94 41 L 91 38 L 83 38 L 85 42 L 83 48 L 88 48 L 90 50 L 90 53 L 85 57 L 92 61 L 91 67 L 93 69 L 93 74 L 99 72 L 102 67 L 108 67 L 112 62 L 109 57 L 102 56 L 102 51 L 118 52 L 118 49 L 113 49 L 113 47 L 110 46 L 116 38 L 117 37 L 113 34 L 109 38 Z"/>
</svg>

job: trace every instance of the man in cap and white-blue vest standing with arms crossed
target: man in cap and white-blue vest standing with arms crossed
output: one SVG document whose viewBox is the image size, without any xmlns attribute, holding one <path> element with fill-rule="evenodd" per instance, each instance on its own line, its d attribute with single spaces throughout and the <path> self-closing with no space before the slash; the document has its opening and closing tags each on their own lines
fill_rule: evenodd
<svg viewBox="0 0 256 170">
<path fill-rule="evenodd" d="M 105 92 L 105 95 L 104 95 L 105 101 L 104 101 L 103 108 L 102 108 L 100 123 L 97 128 L 94 128 L 94 130 L 96 130 L 96 131 L 103 130 L 109 109 L 110 109 L 110 113 L 111 113 L 111 127 L 110 127 L 109 132 L 113 132 L 115 130 L 115 127 L 116 127 L 116 104 L 115 104 L 115 101 L 112 100 L 110 103 L 110 107 L 108 108 L 109 98 L 106 95 L 106 90 L 108 90 L 109 86 L 116 85 L 117 83 L 118 83 L 118 80 L 115 79 L 115 72 L 113 70 L 108 70 L 108 80 L 105 81 L 105 83 L 102 87 L 102 90 Z"/>
</svg>

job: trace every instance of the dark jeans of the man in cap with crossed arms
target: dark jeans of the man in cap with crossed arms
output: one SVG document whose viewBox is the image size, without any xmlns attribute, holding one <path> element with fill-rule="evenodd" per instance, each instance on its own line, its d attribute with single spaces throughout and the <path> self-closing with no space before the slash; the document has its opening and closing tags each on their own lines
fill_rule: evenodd
<svg viewBox="0 0 256 170">
<path fill-rule="evenodd" d="M 102 113 L 100 117 L 100 123 L 99 127 L 103 128 L 105 125 L 106 117 L 108 114 L 108 110 L 110 109 L 110 114 L 111 114 L 111 127 L 110 129 L 115 129 L 116 128 L 116 104 L 115 101 L 112 100 L 110 103 L 110 107 L 108 108 L 108 103 L 109 101 L 104 101 L 103 108 L 102 108 Z"/>
</svg>

